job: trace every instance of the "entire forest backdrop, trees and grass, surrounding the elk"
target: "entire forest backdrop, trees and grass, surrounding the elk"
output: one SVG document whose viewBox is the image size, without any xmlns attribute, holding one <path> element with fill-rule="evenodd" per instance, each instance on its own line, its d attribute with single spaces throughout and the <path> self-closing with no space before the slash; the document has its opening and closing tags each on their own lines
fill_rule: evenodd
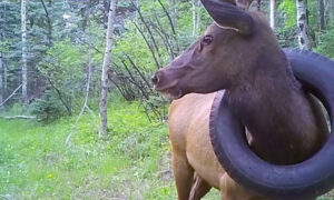
<svg viewBox="0 0 334 200">
<path fill-rule="evenodd" d="M 150 77 L 212 19 L 199 0 L 111 2 L 108 20 L 109 0 L 0 1 L 0 199 L 176 199 Z M 259 6 L 282 47 L 334 59 L 334 0 Z"/>
</svg>

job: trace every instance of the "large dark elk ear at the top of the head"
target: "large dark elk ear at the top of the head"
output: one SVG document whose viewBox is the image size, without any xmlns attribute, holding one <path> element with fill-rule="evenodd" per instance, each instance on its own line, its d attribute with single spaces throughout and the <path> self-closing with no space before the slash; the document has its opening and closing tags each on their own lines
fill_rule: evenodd
<svg viewBox="0 0 334 200">
<path fill-rule="evenodd" d="M 252 34 L 254 20 L 242 9 L 220 0 L 202 0 L 202 3 L 217 24 L 234 28 L 243 36 Z"/>
</svg>

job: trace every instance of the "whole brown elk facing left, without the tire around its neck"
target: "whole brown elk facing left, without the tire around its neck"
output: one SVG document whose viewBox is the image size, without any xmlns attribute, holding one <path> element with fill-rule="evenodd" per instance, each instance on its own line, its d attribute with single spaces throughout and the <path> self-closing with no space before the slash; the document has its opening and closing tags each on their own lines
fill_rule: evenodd
<svg viewBox="0 0 334 200">
<path fill-rule="evenodd" d="M 224 90 L 253 151 L 274 164 L 316 153 L 328 137 L 326 121 L 294 78 L 262 13 L 218 0 L 202 2 L 215 22 L 153 77 L 155 89 L 174 99 L 168 119 L 178 199 L 200 199 L 212 187 L 222 199 L 268 199 L 235 182 L 214 153 L 209 114 L 216 91 Z"/>
</svg>

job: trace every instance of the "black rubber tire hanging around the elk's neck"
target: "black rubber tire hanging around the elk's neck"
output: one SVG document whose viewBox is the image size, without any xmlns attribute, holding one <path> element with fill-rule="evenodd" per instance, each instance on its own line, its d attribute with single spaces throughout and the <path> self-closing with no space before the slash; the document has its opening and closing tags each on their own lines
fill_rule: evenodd
<svg viewBox="0 0 334 200">
<path fill-rule="evenodd" d="M 273 199 L 313 199 L 334 187 L 334 61 L 310 51 L 284 51 L 296 78 L 327 109 L 332 133 L 325 146 L 298 164 L 265 162 L 247 146 L 244 128 L 234 117 L 224 92 L 217 93 L 212 108 L 210 139 L 223 168 L 245 188 Z"/>
</svg>

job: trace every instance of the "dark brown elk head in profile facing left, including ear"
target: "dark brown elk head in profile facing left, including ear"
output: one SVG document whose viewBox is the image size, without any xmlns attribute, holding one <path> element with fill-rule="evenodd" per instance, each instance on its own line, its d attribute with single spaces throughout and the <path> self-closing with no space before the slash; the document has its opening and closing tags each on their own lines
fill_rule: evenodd
<svg viewBox="0 0 334 200">
<path fill-rule="evenodd" d="M 189 92 L 208 93 L 233 87 L 242 71 L 254 64 L 258 49 L 264 48 L 263 40 L 268 49 L 273 49 L 272 41 L 276 42 L 273 33 L 266 36 L 271 28 L 258 26 L 262 20 L 254 20 L 247 11 L 219 0 L 202 2 L 215 23 L 153 77 L 155 89 L 174 99 Z M 266 42 L 266 38 L 271 42 Z M 274 46 L 279 50 L 278 44 Z"/>
</svg>

